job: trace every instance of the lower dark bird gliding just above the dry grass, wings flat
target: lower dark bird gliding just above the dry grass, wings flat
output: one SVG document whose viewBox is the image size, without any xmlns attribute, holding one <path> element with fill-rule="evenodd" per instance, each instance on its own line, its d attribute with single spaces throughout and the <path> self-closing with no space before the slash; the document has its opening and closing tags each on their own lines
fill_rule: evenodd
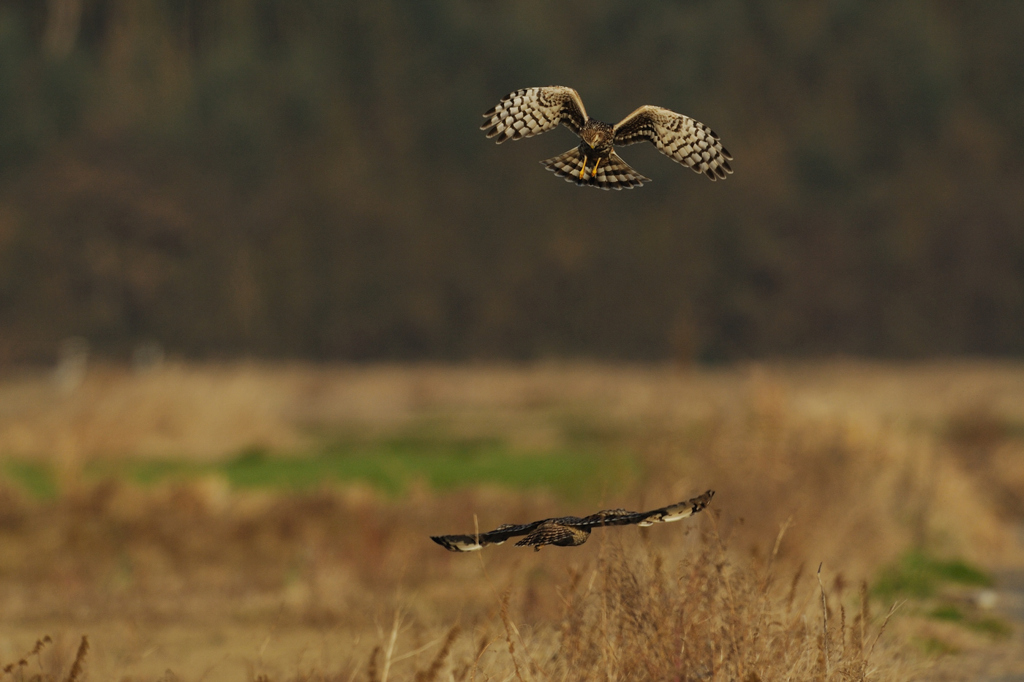
<svg viewBox="0 0 1024 682">
<path fill-rule="evenodd" d="M 715 497 L 715 491 L 708 491 L 703 495 L 680 502 L 677 505 L 669 505 L 660 509 L 653 509 L 649 512 L 630 512 L 625 509 L 608 509 L 599 511 L 590 516 L 561 516 L 559 518 L 545 518 L 532 523 L 515 525 L 506 523 L 500 525 L 489 532 L 470 536 L 431 536 L 431 540 L 453 552 L 475 552 L 483 549 L 487 545 L 501 545 L 509 538 L 526 536 L 515 544 L 516 547 L 532 547 L 540 551 L 544 545 L 557 545 L 559 547 L 577 547 L 583 545 L 590 538 L 590 531 L 601 525 L 652 525 L 654 523 L 669 523 L 678 521 L 696 514 L 708 506 L 711 499 Z"/>
</svg>

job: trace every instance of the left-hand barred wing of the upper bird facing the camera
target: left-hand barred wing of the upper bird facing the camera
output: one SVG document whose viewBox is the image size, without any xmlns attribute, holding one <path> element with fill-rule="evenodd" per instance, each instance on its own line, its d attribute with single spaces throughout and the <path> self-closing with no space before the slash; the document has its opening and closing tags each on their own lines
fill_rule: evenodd
<svg viewBox="0 0 1024 682">
<path fill-rule="evenodd" d="M 580 93 L 572 88 L 552 85 L 543 88 L 523 88 L 511 92 L 498 105 L 483 115 L 486 121 L 480 126 L 487 137 L 497 137 L 499 144 L 507 139 L 520 139 L 547 132 L 564 124 L 580 134 L 587 123 L 587 110 L 583 108 Z"/>
</svg>

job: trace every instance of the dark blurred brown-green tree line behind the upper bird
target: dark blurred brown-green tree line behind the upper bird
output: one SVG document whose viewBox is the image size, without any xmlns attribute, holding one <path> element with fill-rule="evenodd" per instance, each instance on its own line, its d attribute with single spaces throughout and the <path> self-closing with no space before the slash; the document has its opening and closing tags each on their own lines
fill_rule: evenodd
<svg viewBox="0 0 1024 682">
<path fill-rule="evenodd" d="M 1024 3 L 0 0 L 0 360 L 1024 352 Z M 711 125 L 602 193 L 479 116 Z"/>
</svg>

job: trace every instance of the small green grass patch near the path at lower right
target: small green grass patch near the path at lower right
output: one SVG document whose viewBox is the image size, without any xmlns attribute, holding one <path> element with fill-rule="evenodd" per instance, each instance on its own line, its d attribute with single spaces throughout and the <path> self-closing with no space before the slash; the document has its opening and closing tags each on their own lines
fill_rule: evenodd
<svg viewBox="0 0 1024 682">
<path fill-rule="evenodd" d="M 871 592 L 887 600 L 893 597 L 925 599 L 934 596 L 944 583 L 989 587 L 992 579 L 966 561 L 941 560 L 911 551 L 880 571 Z"/>
</svg>

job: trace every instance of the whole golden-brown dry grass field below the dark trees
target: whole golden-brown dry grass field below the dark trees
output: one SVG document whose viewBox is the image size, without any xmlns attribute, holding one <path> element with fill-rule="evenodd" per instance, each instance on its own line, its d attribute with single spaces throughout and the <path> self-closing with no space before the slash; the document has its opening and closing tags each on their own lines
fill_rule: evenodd
<svg viewBox="0 0 1024 682">
<path fill-rule="evenodd" d="M 984 597 L 1024 565 L 1021 365 L 26 370 L 0 455 L 3 682 L 1019 664 Z M 707 488 L 692 519 L 579 548 L 428 539 Z"/>
</svg>

